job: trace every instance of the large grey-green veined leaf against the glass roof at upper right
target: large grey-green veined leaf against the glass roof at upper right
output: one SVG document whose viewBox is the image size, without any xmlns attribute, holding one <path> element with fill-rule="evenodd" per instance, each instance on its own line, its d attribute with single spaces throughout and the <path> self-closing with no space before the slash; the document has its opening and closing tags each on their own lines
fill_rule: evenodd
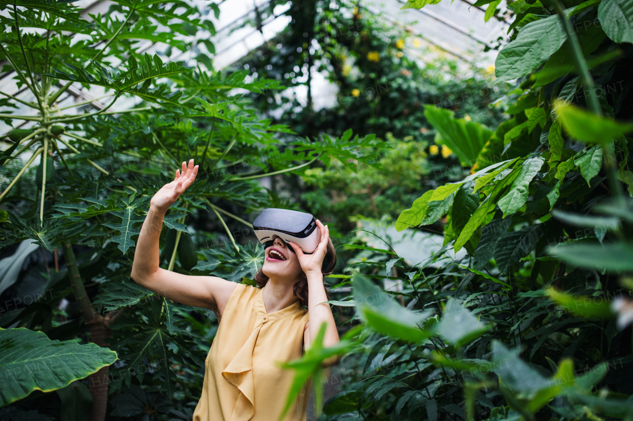
<svg viewBox="0 0 633 421">
<path fill-rule="evenodd" d="M 558 15 L 528 23 L 517 38 L 499 52 L 494 64 L 495 83 L 517 79 L 536 70 L 565 40 L 567 35 Z"/>
</svg>

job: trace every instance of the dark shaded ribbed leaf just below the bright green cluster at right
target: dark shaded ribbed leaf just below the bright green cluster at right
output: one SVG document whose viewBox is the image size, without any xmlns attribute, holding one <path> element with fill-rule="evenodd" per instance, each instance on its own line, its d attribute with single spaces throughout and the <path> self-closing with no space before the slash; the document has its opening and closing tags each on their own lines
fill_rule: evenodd
<svg viewBox="0 0 633 421">
<path fill-rule="evenodd" d="M 536 242 L 543 234 L 542 228 L 542 224 L 532 225 L 499 237 L 494 248 L 494 261 L 499 272 L 508 272 L 510 265 L 520 262 L 522 257 L 527 256 L 536 247 Z"/>
</svg>

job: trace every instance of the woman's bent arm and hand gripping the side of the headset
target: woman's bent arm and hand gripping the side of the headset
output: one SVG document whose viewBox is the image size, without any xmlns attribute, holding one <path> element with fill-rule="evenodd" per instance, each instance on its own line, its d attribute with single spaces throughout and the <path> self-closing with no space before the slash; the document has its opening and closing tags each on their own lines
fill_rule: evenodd
<svg viewBox="0 0 633 421">
<path fill-rule="evenodd" d="M 316 226 L 318 226 L 321 232 L 321 240 L 312 254 L 304 254 L 299 245 L 293 241 L 289 241 L 297 253 L 301 269 L 303 269 L 308 278 L 308 326 L 303 334 L 303 343 L 306 350 L 310 347 L 316 334 L 318 334 L 323 322 L 327 324 L 327 327 L 325 327 L 325 336 L 323 337 L 323 346 L 327 348 L 339 342 L 339 333 L 334 322 L 334 315 L 332 315 L 332 308 L 330 308 L 329 303 L 325 303 L 327 301 L 327 295 L 325 294 L 323 273 L 321 272 L 323 259 L 325 259 L 325 248 L 327 247 L 330 233 L 327 226 L 323 226 L 318 219 L 316 220 Z M 336 360 L 337 358 L 333 357 L 330 360 L 326 360 L 324 365 L 330 365 Z"/>
</svg>

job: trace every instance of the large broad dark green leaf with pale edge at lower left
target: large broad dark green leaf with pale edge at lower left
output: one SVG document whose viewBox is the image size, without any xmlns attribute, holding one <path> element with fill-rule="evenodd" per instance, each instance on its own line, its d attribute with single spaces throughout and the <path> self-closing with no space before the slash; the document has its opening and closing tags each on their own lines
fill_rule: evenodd
<svg viewBox="0 0 633 421">
<path fill-rule="evenodd" d="M 61 389 L 115 361 L 115 351 L 96 343 L 51 341 L 45 333 L 25 327 L 0 328 L 0 406 L 34 390 Z"/>
</svg>

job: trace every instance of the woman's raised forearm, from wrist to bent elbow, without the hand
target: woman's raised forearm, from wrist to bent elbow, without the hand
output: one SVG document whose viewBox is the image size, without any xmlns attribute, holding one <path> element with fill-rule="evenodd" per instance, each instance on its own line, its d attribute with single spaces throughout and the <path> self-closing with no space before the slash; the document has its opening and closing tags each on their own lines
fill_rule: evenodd
<svg viewBox="0 0 633 421">
<path fill-rule="evenodd" d="M 134 262 L 130 276 L 136 283 L 144 283 L 160 269 L 159 238 L 165 213 L 165 210 L 158 209 L 154 205 L 149 206 L 134 249 Z"/>
</svg>

